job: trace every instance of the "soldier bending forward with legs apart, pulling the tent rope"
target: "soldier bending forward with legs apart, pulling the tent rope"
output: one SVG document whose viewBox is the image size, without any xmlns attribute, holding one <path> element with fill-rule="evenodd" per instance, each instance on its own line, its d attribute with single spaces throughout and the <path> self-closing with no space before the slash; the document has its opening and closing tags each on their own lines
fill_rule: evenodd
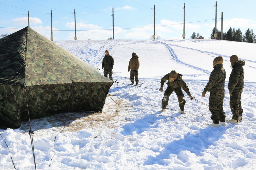
<svg viewBox="0 0 256 170">
<path fill-rule="evenodd" d="M 184 94 L 181 88 L 187 93 L 187 95 L 190 97 L 190 99 L 193 99 L 193 96 L 191 96 L 187 84 L 182 79 L 182 74 L 177 73 L 175 70 L 171 71 L 170 73 L 166 74 L 161 79 L 161 88 L 159 88 L 159 91 L 163 92 L 164 83 L 168 80 L 166 83 L 168 86 L 164 92 L 164 98 L 162 99 L 162 110 L 160 112 L 165 112 L 166 106 L 168 105 L 169 96 L 175 91 L 178 101 L 179 101 L 179 108 L 180 112 L 182 114 L 185 114 L 184 112 L 184 106 L 186 103 L 186 100 L 183 99 Z"/>
</svg>

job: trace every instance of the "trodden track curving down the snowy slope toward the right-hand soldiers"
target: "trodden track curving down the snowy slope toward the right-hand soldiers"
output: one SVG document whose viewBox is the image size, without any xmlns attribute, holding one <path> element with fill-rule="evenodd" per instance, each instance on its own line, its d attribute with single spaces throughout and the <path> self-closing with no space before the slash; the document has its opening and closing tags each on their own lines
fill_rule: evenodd
<svg viewBox="0 0 256 170">
<path fill-rule="evenodd" d="M 187 64 L 187 63 L 185 63 L 185 62 L 179 60 L 179 59 L 178 59 L 178 56 L 175 54 L 174 50 L 170 47 L 170 45 L 172 45 L 172 44 L 169 45 L 169 44 L 166 44 L 166 43 L 160 42 L 160 41 L 156 41 L 156 42 L 158 42 L 158 43 L 163 44 L 164 46 L 166 46 L 166 48 L 168 49 L 168 51 L 169 51 L 169 53 L 170 53 L 170 56 L 171 56 L 171 57 L 173 58 L 173 60 L 175 60 L 177 63 L 183 64 L 183 65 L 185 65 L 185 66 L 188 66 L 188 67 L 190 67 L 190 68 L 193 68 L 193 69 L 196 69 L 196 70 L 199 70 L 199 71 L 202 71 L 202 72 L 204 72 L 205 74 L 210 74 L 210 73 L 211 73 L 211 72 L 208 71 L 208 70 L 204 70 L 204 69 L 202 69 L 202 68 L 195 67 L 195 66 L 193 66 L 193 65 Z M 174 45 L 174 46 L 175 46 L 175 45 Z"/>
</svg>

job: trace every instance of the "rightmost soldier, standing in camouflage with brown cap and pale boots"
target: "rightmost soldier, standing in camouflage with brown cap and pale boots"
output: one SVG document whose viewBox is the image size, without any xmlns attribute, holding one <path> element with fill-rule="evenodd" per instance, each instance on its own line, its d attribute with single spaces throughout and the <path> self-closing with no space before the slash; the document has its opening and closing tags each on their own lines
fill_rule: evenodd
<svg viewBox="0 0 256 170">
<path fill-rule="evenodd" d="M 233 116 L 231 120 L 226 120 L 226 122 L 239 123 L 239 121 L 242 121 L 243 113 L 243 109 L 241 106 L 241 94 L 244 87 L 243 66 L 245 64 L 245 61 L 238 60 L 238 57 L 236 55 L 232 55 L 230 57 L 230 63 L 232 65 L 232 71 L 229 76 L 228 90 L 230 95 L 229 105 Z"/>
</svg>

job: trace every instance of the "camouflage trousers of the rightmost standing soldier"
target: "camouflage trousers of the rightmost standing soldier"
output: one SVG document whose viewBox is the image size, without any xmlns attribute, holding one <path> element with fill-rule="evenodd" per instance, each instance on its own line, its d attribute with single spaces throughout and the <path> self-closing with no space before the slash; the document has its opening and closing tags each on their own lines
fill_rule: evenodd
<svg viewBox="0 0 256 170">
<path fill-rule="evenodd" d="M 232 119 L 238 120 L 238 116 L 242 116 L 243 109 L 241 106 L 241 94 L 243 89 L 234 89 L 232 96 L 230 96 L 229 105 L 233 114 Z"/>
</svg>

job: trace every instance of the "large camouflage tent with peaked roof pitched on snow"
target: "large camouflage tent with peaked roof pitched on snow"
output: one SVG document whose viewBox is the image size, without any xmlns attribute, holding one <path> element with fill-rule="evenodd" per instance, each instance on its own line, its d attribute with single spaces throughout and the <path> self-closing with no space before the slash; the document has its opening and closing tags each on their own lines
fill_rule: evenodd
<svg viewBox="0 0 256 170">
<path fill-rule="evenodd" d="M 30 27 L 0 39 L 0 128 L 80 110 L 101 111 L 114 82 Z"/>
</svg>

